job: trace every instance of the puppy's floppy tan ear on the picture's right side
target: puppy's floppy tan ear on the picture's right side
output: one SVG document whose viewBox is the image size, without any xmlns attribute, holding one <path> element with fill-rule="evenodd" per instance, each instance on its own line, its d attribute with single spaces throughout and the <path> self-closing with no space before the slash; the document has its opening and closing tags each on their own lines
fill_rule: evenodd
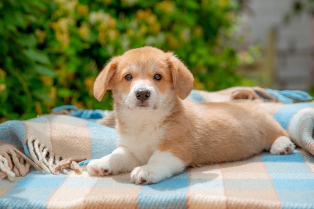
<svg viewBox="0 0 314 209">
<path fill-rule="evenodd" d="M 173 77 L 174 88 L 180 99 L 187 98 L 192 89 L 194 78 L 189 69 L 173 53 L 168 52 L 168 63 Z"/>
</svg>

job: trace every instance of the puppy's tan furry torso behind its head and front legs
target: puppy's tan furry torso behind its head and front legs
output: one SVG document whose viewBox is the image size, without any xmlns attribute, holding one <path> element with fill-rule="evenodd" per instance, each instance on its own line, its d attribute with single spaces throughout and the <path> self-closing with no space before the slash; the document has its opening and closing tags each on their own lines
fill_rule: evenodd
<svg viewBox="0 0 314 209">
<path fill-rule="evenodd" d="M 169 117 L 168 140 L 161 150 L 191 164 L 241 160 L 270 149 L 279 136 L 288 136 L 274 119 L 254 103 L 186 101 Z M 187 148 L 188 147 L 188 148 Z"/>
</svg>

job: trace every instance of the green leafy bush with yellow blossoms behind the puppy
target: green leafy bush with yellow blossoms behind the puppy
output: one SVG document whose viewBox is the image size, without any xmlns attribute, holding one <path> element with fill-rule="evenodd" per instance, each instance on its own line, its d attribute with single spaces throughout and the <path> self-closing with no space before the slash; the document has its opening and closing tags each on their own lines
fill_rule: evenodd
<svg viewBox="0 0 314 209">
<path fill-rule="evenodd" d="M 27 119 L 51 108 L 110 109 L 93 81 L 110 57 L 145 45 L 173 51 L 195 88 L 242 85 L 230 45 L 235 1 L 4 0 L 0 3 L 0 118 Z"/>
</svg>

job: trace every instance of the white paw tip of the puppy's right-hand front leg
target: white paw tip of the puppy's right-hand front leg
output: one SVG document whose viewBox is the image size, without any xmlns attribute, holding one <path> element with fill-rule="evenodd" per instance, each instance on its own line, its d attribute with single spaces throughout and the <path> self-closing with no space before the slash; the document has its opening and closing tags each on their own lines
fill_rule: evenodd
<svg viewBox="0 0 314 209">
<path fill-rule="evenodd" d="M 152 184 L 164 180 L 162 172 L 156 172 L 149 165 L 135 167 L 131 172 L 131 182 L 136 184 Z"/>
</svg>

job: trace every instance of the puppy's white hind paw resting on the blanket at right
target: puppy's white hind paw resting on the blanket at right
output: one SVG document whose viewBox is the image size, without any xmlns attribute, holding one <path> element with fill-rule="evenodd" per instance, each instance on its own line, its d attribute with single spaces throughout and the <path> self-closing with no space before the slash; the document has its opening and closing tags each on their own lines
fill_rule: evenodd
<svg viewBox="0 0 314 209">
<path fill-rule="evenodd" d="M 283 155 L 293 153 L 295 145 L 286 136 L 279 136 L 271 145 L 270 154 Z"/>
</svg>

